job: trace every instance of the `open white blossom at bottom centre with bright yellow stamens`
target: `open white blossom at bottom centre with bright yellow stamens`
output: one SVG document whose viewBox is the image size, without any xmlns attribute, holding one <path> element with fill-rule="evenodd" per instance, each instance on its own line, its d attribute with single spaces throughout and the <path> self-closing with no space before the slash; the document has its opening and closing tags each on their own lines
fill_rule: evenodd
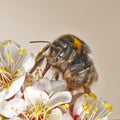
<svg viewBox="0 0 120 120">
<path fill-rule="evenodd" d="M 24 99 L 14 98 L 8 101 L 1 114 L 9 119 L 20 116 L 25 120 L 62 120 L 62 111 L 58 106 L 69 103 L 71 99 L 71 94 L 67 91 L 49 96 L 37 87 L 27 87 Z"/>
</svg>

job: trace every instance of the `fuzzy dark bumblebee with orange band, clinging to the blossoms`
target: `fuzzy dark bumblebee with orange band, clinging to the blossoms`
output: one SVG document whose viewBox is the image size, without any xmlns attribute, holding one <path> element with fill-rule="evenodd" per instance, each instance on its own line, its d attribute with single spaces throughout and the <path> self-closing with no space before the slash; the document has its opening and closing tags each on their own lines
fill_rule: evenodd
<svg viewBox="0 0 120 120">
<path fill-rule="evenodd" d="M 30 73 L 33 73 L 46 58 L 47 63 L 42 72 L 43 76 L 52 66 L 56 69 L 54 78 L 57 80 L 59 74 L 62 73 L 69 90 L 84 87 L 86 93 L 90 92 L 90 85 L 97 80 L 98 74 L 92 59 L 89 57 L 91 50 L 84 41 L 75 35 L 65 34 L 52 43 L 48 41 L 31 41 L 31 43 L 35 42 L 47 42 L 49 44 L 36 56 L 35 65 Z M 48 51 L 47 54 L 45 54 L 46 51 Z"/>
</svg>

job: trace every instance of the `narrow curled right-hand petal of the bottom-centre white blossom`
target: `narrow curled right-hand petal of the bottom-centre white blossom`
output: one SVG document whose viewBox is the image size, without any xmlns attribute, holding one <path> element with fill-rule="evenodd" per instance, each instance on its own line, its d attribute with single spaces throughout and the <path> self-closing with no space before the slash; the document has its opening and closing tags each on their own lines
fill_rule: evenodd
<svg viewBox="0 0 120 120">
<path fill-rule="evenodd" d="M 67 91 L 62 91 L 62 92 L 58 92 L 55 93 L 50 99 L 49 101 L 47 101 L 45 104 L 46 105 L 50 105 L 51 107 L 48 109 L 52 109 L 54 107 L 57 107 L 59 105 L 65 104 L 65 103 L 69 103 L 72 99 L 72 96 L 70 94 L 70 92 Z"/>
</svg>

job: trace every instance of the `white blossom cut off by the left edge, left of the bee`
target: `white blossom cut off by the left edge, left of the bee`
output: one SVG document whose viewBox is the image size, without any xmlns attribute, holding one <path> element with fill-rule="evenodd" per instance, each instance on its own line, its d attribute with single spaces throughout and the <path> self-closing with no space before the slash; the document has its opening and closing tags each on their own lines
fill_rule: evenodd
<svg viewBox="0 0 120 120">
<path fill-rule="evenodd" d="M 25 72 L 33 65 L 26 53 L 11 40 L 0 41 L 0 102 L 14 96 L 22 86 Z"/>
</svg>

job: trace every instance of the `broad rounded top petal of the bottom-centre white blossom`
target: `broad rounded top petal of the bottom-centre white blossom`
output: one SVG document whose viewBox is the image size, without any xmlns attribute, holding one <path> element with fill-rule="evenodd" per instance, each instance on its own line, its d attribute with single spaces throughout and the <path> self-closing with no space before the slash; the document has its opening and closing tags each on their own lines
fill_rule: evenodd
<svg viewBox="0 0 120 120">
<path fill-rule="evenodd" d="M 48 101 L 49 97 L 47 93 L 44 91 L 41 91 L 37 87 L 27 87 L 24 92 L 25 100 L 28 102 L 28 104 L 37 104 L 40 101 Z"/>
</svg>

